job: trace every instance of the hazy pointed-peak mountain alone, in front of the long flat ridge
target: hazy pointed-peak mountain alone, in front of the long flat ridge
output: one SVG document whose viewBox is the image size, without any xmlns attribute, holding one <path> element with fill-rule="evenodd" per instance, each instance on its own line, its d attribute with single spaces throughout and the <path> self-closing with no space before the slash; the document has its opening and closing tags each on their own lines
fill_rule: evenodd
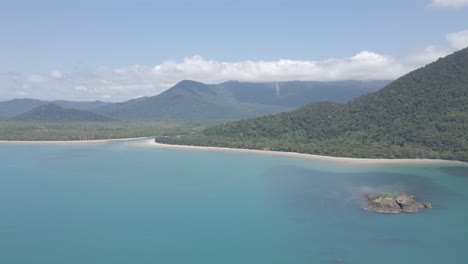
<svg viewBox="0 0 468 264">
<path fill-rule="evenodd" d="M 96 113 L 121 120 L 220 121 L 287 111 L 281 106 L 242 103 L 216 86 L 182 81 L 157 96 L 97 108 Z"/>
</svg>

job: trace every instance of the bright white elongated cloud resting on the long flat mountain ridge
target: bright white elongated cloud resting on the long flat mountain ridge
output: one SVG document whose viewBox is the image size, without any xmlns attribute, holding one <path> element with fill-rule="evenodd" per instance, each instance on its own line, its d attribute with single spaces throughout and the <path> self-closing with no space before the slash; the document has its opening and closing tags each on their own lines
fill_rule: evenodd
<svg viewBox="0 0 468 264">
<path fill-rule="evenodd" d="M 392 79 L 408 69 L 390 56 L 363 51 L 342 59 L 239 61 L 220 62 L 201 56 L 185 58 L 182 62 L 166 61 L 154 67 L 157 79 L 172 85 L 181 79 L 208 83 L 228 80 L 287 81 L 287 80 L 369 80 Z"/>
</svg>

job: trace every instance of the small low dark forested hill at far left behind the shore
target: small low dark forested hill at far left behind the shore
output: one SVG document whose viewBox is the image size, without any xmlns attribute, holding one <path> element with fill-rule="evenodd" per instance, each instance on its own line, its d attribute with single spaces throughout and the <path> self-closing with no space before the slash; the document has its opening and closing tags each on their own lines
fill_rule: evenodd
<svg viewBox="0 0 468 264">
<path fill-rule="evenodd" d="M 11 119 L 10 121 L 20 122 L 106 122 L 112 121 L 108 117 L 98 115 L 96 113 L 77 110 L 67 109 L 56 104 L 43 104 L 28 112 L 19 114 Z"/>
</svg>

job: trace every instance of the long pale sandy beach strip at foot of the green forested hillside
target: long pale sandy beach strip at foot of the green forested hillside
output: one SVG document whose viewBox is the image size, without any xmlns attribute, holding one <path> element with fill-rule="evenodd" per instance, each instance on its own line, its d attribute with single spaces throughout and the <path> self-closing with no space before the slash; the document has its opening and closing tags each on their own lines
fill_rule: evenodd
<svg viewBox="0 0 468 264">
<path fill-rule="evenodd" d="M 194 151 L 217 151 L 217 152 L 238 152 L 238 153 L 255 153 L 270 156 L 283 156 L 292 158 L 302 158 L 315 161 L 340 162 L 350 164 L 468 164 L 462 161 L 455 160 L 440 160 L 440 159 L 366 159 L 366 158 L 344 158 L 320 156 L 313 154 L 297 153 L 297 152 L 282 152 L 271 150 L 254 150 L 254 149 L 237 149 L 223 147 L 202 147 L 202 146 L 187 146 L 187 145 L 169 145 L 155 142 L 154 139 L 137 140 L 130 143 L 132 146 L 152 147 L 152 148 L 169 148 L 169 149 L 185 149 Z"/>
</svg>

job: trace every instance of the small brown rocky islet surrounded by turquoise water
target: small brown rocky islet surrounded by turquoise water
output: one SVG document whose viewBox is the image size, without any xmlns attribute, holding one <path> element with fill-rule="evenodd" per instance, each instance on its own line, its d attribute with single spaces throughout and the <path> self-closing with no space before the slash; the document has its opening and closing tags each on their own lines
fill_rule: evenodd
<svg viewBox="0 0 468 264">
<path fill-rule="evenodd" d="M 432 208 L 430 203 L 420 203 L 414 196 L 405 193 L 397 195 L 367 194 L 368 211 L 383 214 L 415 213 L 421 209 Z"/>
</svg>

